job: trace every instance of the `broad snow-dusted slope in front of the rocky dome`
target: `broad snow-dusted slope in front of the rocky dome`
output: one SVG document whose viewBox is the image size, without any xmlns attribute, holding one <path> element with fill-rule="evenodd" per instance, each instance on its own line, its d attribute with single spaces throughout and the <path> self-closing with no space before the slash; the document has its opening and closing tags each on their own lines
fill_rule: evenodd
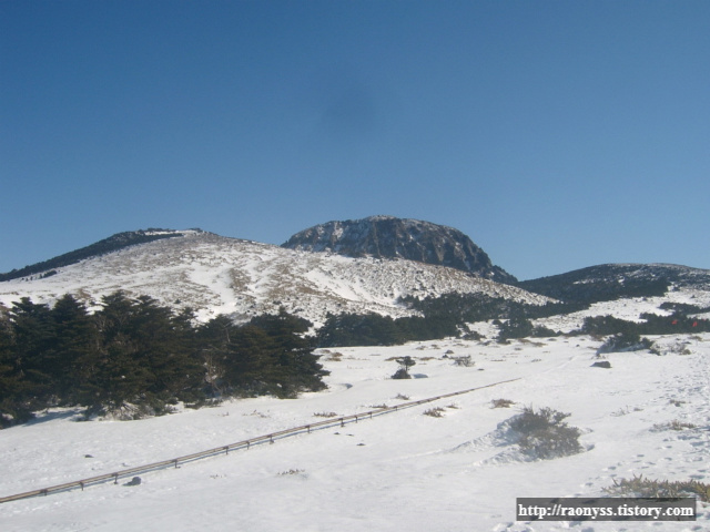
<svg viewBox="0 0 710 532">
<path fill-rule="evenodd" d="M 315 323 L 327 313 L 375 311 L 406 316 L 397 304 L 405 295 L 484 293 L 530 303 L 547 298 L 464 272 L 412 260 L 349 258 L 285 249 L 211 233 L 128 247 L 58 268 L 41 278 L 0 283 L 0 304 L 28 296 L 53 303 L 63 294 L 87 301 L 118 289 L 154 297 L 164 305 L 192 307 L 206 320 L 217 314 L 248 319 L 283 306 Z"/>
</svg>

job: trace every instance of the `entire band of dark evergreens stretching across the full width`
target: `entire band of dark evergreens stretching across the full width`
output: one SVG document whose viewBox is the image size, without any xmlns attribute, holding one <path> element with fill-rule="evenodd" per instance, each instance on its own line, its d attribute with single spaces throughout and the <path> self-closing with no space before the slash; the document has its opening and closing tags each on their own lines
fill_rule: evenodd
<svg viewBox="0 0 710 532">
<path fill-rule="evenodd" d="M 71 295 L 53 307 L 22 298 L 0 307 L 0 427 L 22 422 L 55 406 L 85 407 L 89 416 L 160 415 L 179 401 L 199 407 L 227 397 L 296 397 L 325 388 L 328 372 L 316 347 L 397 345 L 471 335 L 467 323 L 494 320 L 498 341 L 559 335 L 532 319 L 585 308 L 579 303 L 526 305 L 485 295 L 448 294 L 407 298 L 420 316 L 394 319 L 376 314 L 328 315 L 316 336 L 313 324 L 281 310 L 235 325 L 217 316 L 196 325 L 194 313 L 175 313 L 141 296 L 118 291 L 89 311 Z M 640 335 L 710 331 L 691 317 L 708 308 L 663 304 L 671 316 L 642 321 L 611 316 L 585 319 L 571 335 Z M 497 321 L 496 321 L 497 320 Z"/>
</svg>

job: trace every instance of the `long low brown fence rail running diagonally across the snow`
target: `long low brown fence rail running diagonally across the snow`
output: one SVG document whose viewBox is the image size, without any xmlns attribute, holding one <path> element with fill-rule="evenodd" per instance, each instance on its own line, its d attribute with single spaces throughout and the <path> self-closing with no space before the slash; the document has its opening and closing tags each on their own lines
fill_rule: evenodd
<svg viewBox="0 0 710 532">
<path fill-rule="evenodd" d="M 469 393 L 469 392 L 476 391 L 476 390 L 483 390 L 485 388 L 491 388 L 494 386 L 504 385 L 504 383 L 507 383 L 507 382 L 514 382 L 516 380 L 520 380 L 520 379 L 517 378 L 517 379 L 501 380 L 501 381 L 498 381 L 498 382 L 494 382 L 491 385 L 478 386 L 476 388 L 469 388 L 467 390 L 454 391 L 452 393 L 444 393 L 442 396 L 429 397 L 427 399 L 419 399 L 418 401 L 403 402 L 403 403 L 399 403 L 399 405 L 395 405 L 394 407 L 376 408 L 374 410 L 369 410 L 369 411 L 366 411 L 366 412 L 353 413 L 351 416 L 341 416 L 341 417 L 336 417 L 336 418 L 326 419 L 324 421 L 317 421 L 315 423 L 302 424 L 302 426 L 298 426 L 298 427 L 293 427 L 291 429 L 284 429 L 284 430 L 280 430 L 280 431 L 276 431 L 276 432 L 270 432 L 270 433 L 263 434 L 263 436 L 256 436 L 254 438 L 250 438 L 247 440 L 237 441 L 235 443 L 230 443 L 230 444 L 226 444 L 226 446 L 215 447 L 213 449 L 207 449 L 206 451 L 200 451 L 200 452 L 195 452 L 195 453 L 192 453 L 192 454 L 185 454 L 183 457 L 173 458 L 173 459 L 170 459 L 170 460 L 163 460 L 161 462 L 148 463 L 148 464 L 144 464 L 144 466 L 138 466 L 135 468 L 122 469 L 120 471 L 115 471 L 115 472 L 112 472 L 112 473 L 100 474 L 98 477 L 90 477 L 88 479 L 75 480 L 75 481 L 72 481 L 72 482 L 65 482 L 63 484 L 50 485 L 48 488 L 27 491 L 24 493 L 17 493 L 14 495 L 1 497 L 0 498 L 0 503 L 10 502 L 10 501 L 18 501 L 20 499 L 29 499 L 31 497 L 48 495 L 50 493 L 58 493 L 58 492 L 61 492 L 61 491 L 68 491 L 68 490 L 77 489 L 77 488 L 80 488 L 83 491 L 83 489 L 85 487 L 88 487 L 88 485 L 99 484 L 99 483 L 103 483 L 103 482 L 113 481 L 114 483 L 118 483 L 120 478 L 125 478 L 125 477 L 129 477 L 129 475 L 132 475 L 132 474 L 146 473 L 146 472 L 150 472 L 150 471 L 155 471 L 155 470 L 166 469 L 166 468 L 178 468 L 182 463 L 193 462 L 195 460 L 202 460 L 204 458 L 214 457 L 216 454 L 223 454 L 223 453 L 224 454 L 229 454 L 230 451 L 232 451 L 232 450 L 248 449 L 252 446 L 256 446 L 256 444 L 265 443 L 265 442 L 273 443 L 274 440 L 276 440 L 276 439 L 287 438 L 287 437 L 295 436 L 295 434 L 303 433 L 303 432 L 311 433 L 311 431 L 313 431 L 313 430 L 324 429 L 324 428 L 327 428 L 327 427 L 335 427 L 335 426 L 338 426 L 338 424 L 341 427 L 344 427 L 345 423 L 353 422 L 353 421 L 354 422 L 358 422 L 361 419 L 372 419 L 375 416 L 383 416 L 385 413 L 396 412 L 398 410 L 404 410 L 406 408 L 412 408 L 412 407 L 416 407 L 416 406 L 419 406 L 419 405 L 425 405 L 427 402 L 438 401 L 440 399 L 446 399 L 448 397 L 455 397 L 455 396 L 460 396 L 460 395 L 464 395 L 464 393 Z"/>
</svg>

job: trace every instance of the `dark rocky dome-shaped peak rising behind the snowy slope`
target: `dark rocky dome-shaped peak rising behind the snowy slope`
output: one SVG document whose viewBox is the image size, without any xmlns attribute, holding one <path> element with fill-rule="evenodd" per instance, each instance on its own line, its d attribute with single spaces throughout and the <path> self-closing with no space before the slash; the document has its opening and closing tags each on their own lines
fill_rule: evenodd
<svg viewBox="0 0 710 532">
<path fill-rule="evenodd" d="M 498 283 L 516 278 L 458 229 L 418 219 L 371 216 L 328 222 L 293 235 L 282 245 L 307 252 L 332 252 L 348 257 L 405 258 L 448 266 Z"/>
</svg>

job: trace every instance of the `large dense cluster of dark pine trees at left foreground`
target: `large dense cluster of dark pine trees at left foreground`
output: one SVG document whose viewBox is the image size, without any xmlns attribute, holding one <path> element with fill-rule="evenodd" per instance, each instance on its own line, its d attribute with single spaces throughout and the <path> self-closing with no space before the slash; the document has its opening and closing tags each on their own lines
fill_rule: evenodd
<svg viewBox="0 0 710 532">
<path fill-rule="evenodd" d="M 190 310 L 120 291 L 94 313 L 71 295 L 53 307 L 22 298 L 0 316 L 0 426 L 54 406 L 140 417 L 178 401 L 321 390 L 311 325 L 285 311 L 195 325 Z"/>
</svg>

